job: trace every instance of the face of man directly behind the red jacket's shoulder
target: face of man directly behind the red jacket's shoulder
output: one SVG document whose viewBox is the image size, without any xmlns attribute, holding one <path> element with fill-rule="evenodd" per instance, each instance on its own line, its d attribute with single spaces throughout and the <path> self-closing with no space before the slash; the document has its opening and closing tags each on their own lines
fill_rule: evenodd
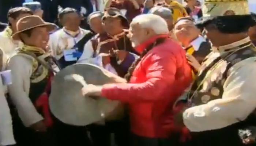
<svg viewBox="0 0 256 146">
<path fill-rule="evenodd" d="M 182 45 L 186 46 L 199 36 L 200 30 L 196 28 L 191 20 L 185 19 L 176 23 L 174 26 L 174 34 L 178 41 L 180 41 Z"/>
</svg>

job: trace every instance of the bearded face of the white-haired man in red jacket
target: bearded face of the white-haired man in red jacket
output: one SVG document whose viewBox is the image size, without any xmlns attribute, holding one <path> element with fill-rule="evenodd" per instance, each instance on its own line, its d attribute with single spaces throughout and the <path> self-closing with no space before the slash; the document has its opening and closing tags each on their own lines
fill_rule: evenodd
<svg viewBox="0 0 256 146">
<path fill-rule="evenodd" d="M 131 24 L 128 37 L 131 39 L 132 46 L 136 47 L 153 37 L 155 32 L 150 28 L 142 28 L 139 24 Z"/>
</svg>

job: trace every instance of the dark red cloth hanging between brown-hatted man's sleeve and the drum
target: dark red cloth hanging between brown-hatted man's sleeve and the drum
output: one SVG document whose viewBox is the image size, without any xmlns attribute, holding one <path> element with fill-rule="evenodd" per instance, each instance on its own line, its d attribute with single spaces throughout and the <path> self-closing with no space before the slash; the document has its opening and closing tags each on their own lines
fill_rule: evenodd
<svg viewBox="0 0 256 146">
<path fill-rule="evenodd" d="M 52 127 L 53 120 L 52 116 L 50 114 L 50 107 L 49 107 L 49 94 L 51 90 L 51 81 L 53 78 L 53 74 L 50 74 L 49 80 L 47 82 L 47 85 L 45 87 L 45 92 L 42 93 L 40 97 L 38 97 L 37 101 L 35 101 L 35 107 L 41 108 L 42 113 L 44 116 L 44 123 L 47 127 Z"/>
</svg>

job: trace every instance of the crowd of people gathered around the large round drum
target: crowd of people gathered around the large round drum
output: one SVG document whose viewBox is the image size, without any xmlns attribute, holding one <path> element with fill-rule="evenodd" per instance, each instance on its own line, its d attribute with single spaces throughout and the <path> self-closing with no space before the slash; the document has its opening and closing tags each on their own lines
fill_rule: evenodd
<svg viewBox="0 0 256 146">
<path fill-rule="evenodd" d="M 68 1 L 17 2 L 0 17 L 0 146 L 256 145 L 247 0 Z M 53 78 L 77 63 L 126 80 L 81 89 L 120 101 L 124 116 L 86 126 L 54 116 Z"/>
</svg>

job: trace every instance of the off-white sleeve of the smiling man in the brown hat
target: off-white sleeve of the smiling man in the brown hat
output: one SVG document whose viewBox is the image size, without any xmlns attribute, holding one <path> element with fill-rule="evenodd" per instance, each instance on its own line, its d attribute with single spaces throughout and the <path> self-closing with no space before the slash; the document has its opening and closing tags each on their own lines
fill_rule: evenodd
<svg viewBox="0 0 256 146">
<path fill-rule="evenodd" d="M 22 56 L 14 56 L 10 59 L 8 69 L 12 73 L 12 85 L 8 88 L 10 97 L 23 124 L 29 127 L 43 120 L 29 98 L 32 60 Z"/>
</svg>

